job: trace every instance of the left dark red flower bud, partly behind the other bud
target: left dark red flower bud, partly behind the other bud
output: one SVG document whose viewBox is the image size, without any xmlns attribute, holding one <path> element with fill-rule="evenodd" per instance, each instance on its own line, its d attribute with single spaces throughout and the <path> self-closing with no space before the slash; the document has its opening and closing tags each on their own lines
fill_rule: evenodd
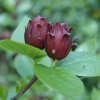
<svg viewBox="0 0 100 100">
<path fill-rule="evenodd" d="M 44 49 L 44 42 L 47 37 L 48 22 L 40 16 L 29 20 L 25 30 L 25 43 L 34 47 Z"/>
</svg>

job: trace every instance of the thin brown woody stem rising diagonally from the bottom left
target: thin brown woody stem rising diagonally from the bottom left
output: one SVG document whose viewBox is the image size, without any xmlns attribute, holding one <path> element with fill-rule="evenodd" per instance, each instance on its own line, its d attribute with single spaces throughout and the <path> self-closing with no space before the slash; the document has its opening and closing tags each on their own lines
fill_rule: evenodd
<svg viewBox="0 0 100 100">
<path fill-rule="evenodd" d="M 16 100 L 18 99 L 21 95 L 23 95 L 31 86 L 32 84 L 37 80 L 38 78 L 34 75 L 34 77 L 31 79 L 31 81 L 13 98 L 11 98 L 11 100 Z"/>
</svg>

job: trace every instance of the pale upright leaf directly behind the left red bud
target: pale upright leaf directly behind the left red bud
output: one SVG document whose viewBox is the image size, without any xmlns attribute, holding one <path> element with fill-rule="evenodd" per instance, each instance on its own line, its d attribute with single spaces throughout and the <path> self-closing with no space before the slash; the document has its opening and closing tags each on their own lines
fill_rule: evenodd
<svg viewBox="0 0 100 100">
<path fill-rule="evenodd" d="M 25 31 L 25 26 L 27 26 L 27 23 L 29 21 L 29 17 L 24 17 L 21 23 L 18 25 L 18 27 L 15 29 L 11 36 L 11 40 L 20 42 L 20 43 L 25 43 L 24 42 L 24 31 Z"/>
</svg>

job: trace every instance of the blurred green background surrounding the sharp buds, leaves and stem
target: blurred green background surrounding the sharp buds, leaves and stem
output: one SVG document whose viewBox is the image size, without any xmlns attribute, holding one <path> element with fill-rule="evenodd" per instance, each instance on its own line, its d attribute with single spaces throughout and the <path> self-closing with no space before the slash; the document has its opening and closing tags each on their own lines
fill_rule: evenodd
<svg viewBox="0 0 100 100">
<path fill-rule="evenodd" d="M 73 51 L 100 54 L 100 0 L 0 0 L 0 40 L 10 38 L 24 16 L 36 15 L 53 24 L 59 21 L 74 26 L 71 38 L 78 35 L 80 39 L 75 41 L 79 46 L 73 47 Z M 15 88 L 19 91 L 34 74 L 27 67 L 31 66 L 29 58 L 25 65 L 22 61 L 26 62 L 26 57 L 15 56 L 0 48 L 0 84 L 8 88 L 8 100 L 16 94 Z M 37 81 L 18 100 L 100 100 L 100 77 L 80 78 L 85 91 L 76 97 L 66 98 Z"/>
</svg>

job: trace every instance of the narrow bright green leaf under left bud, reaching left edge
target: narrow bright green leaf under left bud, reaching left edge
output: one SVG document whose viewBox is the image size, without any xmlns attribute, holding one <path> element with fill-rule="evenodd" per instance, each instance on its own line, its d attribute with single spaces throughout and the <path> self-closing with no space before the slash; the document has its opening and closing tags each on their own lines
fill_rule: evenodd
<svg viewBox="0 0 100 100">
<path fill-rule="evenodd" d="M 32 59 L 46 56 L 46 53 L 43 50 L 8 39 L 0 41 L 0 46 L 8 50 L 26 55 Z"/>
</svg>

